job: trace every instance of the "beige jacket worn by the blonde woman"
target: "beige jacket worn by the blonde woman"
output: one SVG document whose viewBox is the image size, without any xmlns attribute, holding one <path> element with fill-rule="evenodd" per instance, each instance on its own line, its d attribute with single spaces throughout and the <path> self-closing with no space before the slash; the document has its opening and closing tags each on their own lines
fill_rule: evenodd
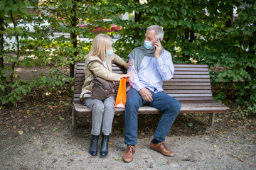
<svg viewBox="0 0 256 170">
<path fill-rule="evenodd" d="M 100 60 L 99 57 L 97 56 L 91 56 L 88 58 L 85 58 L 85 82 L 82 86 L 82 93 L 80 94 L 80 98 L 82 98 L 82 95 L 84 95 L 84 98 L 91 97 L 90 94 L 85 94 L 85 93 L 90 93 L 92 91 L 92 86 L 93 86 L 93 76 L 90 72 L 90 70 L 87 68 L 87 64 L 92 61 L 92 60 Z M 90 69 L 92 72 L 95 74 L 97 77 L 102 77 L 103 79 L 106 80 L 111 80 L 111 81 L 120 81 L 120 74 L 116 74 L 112 72 L 112 62 L 116 62 L 117 64 L 124 65 L 124 60 L 122 60 L 121 57 L 119 57 L 116 54 L 112 54 L 109 57 L 107 57 L 107 67 L 106 69 L 103 64 L 100 64 L 99 62 L 91 62 L 90 64 Z M 90 83 L 90 81 L 92 81 Z"/>
</svg>

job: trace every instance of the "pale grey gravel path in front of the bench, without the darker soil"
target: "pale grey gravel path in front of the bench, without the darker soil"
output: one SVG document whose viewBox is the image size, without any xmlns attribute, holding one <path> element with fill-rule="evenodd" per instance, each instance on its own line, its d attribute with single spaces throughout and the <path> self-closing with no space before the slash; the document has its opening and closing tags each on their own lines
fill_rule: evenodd
<svg viewBox="0 0 256 170">
<path fill-rule="evenodd" d="M 122 136 L 110 138 L 110 154 L 102 159 L 88 154 L 89 138 L 70 125 L 58 132 L 21 135 L 10 141 L 1 137 L 1 169 L 256 169 L 255 135 L 225 134 L 167 137 L 166 145 L 175 157 L 164 157 L 149 149 L 150 137 L 139 137 L 134 160 L 122 162 Z"/>
</svg>

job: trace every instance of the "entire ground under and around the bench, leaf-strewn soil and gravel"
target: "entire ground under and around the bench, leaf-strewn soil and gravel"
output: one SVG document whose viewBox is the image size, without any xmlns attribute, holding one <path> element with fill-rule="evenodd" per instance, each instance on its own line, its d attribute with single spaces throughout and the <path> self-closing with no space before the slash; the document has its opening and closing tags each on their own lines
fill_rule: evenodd
<svg viewBox="0 0 256 170">
<path fill-rule="evenodd" d="M 256 169 L 256 118 L 235 118 L 231 112 L 217 114 L 210 128 L 201 124 L 208 120 L 205 113 L 178 115 L 165 142 L 176 154 L 170 158 L 149 149 L 160 115 L 139 115 L 134 160 L 124 163 L 124 116 L 114 117 L 108 156 L 92 157 L 88 153 L 90 116 L 80 118 L 80 128 L 73 130 L 70 94 L 56 93 L 61 98 L 53 101 L 45 92 L 33 91 L 11 113 L 11 106 L 1 108 L 1 170 Z"/>
</svg>

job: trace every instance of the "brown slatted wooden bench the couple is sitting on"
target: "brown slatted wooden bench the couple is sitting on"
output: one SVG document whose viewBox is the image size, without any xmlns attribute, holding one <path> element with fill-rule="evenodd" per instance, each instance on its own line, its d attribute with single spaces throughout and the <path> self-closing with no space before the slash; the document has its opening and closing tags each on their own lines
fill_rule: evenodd
<svg viewBox="0 0 256 170">
<path fill-rule="evenodd" d="M 75 72 L 75 91 L 73 95 L 72 124 L 77 126 L 78 115 L 92 114 L 90 108 L 80 104 L 80 93 L 85 81 L 85 63 L 79 62 Z M 210 76 L 206 64 L 174 64 L 174 77 L 164 81 L 166 94 L 181 102 L 180 113 L 210 113 L 209 125 L 213 126 L 214 114 L 226 111 L 226 106 L 213 101 L 210 87 Z M 124 69 L 118 64 L 112 64 L 112 71 L 123 74 Z M 116 82 L 118 88 L 119 82 Z M 142 106 L 139 114 L 161 113 L 156 108 Z M 115 114 L 124 114 L 124 108 L 115 108 Z"/>
</svg>

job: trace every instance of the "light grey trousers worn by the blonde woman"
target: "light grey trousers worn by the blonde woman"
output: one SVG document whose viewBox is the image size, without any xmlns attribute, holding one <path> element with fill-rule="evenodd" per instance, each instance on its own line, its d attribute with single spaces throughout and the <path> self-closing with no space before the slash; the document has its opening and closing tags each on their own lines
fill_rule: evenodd
<svg viewBox="0 0 256 170">
<path fill-rule="evenodd" d="M 100 135 L 100 128 L 105 135 L 110 135 L 114 118 L 114 95 L 100 101 L 93 98 L 85 98 L 85 104 L 92 109 L 92 135 Z"/>
</svg>

